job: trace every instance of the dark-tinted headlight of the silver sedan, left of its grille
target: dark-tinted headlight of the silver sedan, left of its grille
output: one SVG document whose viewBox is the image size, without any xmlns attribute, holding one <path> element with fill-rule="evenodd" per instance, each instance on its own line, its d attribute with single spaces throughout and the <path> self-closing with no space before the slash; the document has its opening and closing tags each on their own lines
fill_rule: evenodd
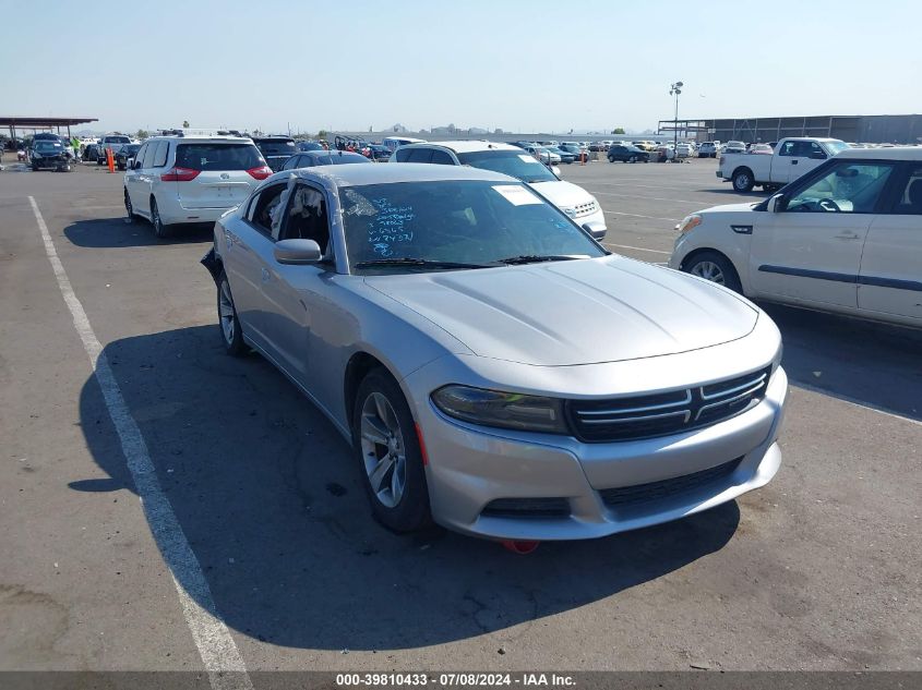
<svg viewBox="0 0 922 690">
<path fill-rule="evenodd" d="M 563 401 L 554 398 L 451 385 L 433 392 L 432 402 L 448 416 L 472 424 L 548 434 L 568 433 L 563 419 Z"/>
</svg>

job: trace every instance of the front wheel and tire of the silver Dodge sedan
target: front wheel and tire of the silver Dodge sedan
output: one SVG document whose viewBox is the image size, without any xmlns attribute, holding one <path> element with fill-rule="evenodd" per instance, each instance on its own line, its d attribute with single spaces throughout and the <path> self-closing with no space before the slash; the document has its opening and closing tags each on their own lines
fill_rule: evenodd
<svg viewBox="0 0 922 690">
<path fill-rule="evenodd" d="M 416 423 L 400 387 L 383 368 L 359 385 L 352 448 L 374 519 L 394 532 L 428 526 L 429 487 Z"/>
</svg>

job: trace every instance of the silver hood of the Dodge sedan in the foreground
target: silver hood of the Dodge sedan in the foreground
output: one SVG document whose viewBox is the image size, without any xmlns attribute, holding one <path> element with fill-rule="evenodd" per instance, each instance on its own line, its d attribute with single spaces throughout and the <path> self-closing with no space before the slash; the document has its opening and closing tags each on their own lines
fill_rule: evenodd
<svg viewBox="0 0 922 690">
<path fill-rule="evenodd" d="M 622 256 L 364 280 L 478 356 L 540 366 L 697 350 L 758 318 L 728 290 Z"/>
</svg>

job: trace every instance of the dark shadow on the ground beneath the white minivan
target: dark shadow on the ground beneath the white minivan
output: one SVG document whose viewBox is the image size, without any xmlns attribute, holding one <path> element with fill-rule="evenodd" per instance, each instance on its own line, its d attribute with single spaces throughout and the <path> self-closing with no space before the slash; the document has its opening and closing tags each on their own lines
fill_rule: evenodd
<svg viewBox="0 0 922 690">
<path fill-rule="evenodd" d="M 134 218 L 131 222 L 125 218 L 93 218 L 77 220 L 64 228 L 64 237 L 72 244 L 87 249 L 195 244 L 211 242 L 213 232 L 214 223 L 172 226 L 170 235 L 160 240 L 143 218 Z"/>
</svg>

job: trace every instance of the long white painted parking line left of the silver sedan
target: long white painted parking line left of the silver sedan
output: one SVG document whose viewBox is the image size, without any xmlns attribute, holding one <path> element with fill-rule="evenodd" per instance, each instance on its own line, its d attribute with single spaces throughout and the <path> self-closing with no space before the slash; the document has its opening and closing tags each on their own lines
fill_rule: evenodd
<svg viewBox="0 0 922 690">
<path fill-rule="evenodd" d="M 144 515 L 151 524 L 151 532 L 172 574 L 172 581 L 182 604 L 182 613 L 192 631 L 195 646 L 199 647 L 212 688 L 214 690 L 252 690 L 253 683 L 247 674 L 243 658 L 227 626 L 218 617 L 208 581 L 182 532 L 182 526 L 172 511 L 169 499 L 160 487 L 147 445 L 144 443 L 137 423 L 131 416 L 121 388 L 112 374 L 109 359 L 103 351 L 96 334 L 93 332 L 86 312 L 71 287 L 68 274 L 64 273 L 64 266 L 55 250 L 55 243 L 51 241 L 41 211 L 38 210 L 38 204 L 32 196 L 28 197 L 28 202 L 35 213 L 38 229 L 41 231 L 45 252 L 58 279 L 58 288 L 71 312 L 74 328 L 83 341 L 93 374 L 103 390 L 103 398 L 119 435 L 125 463 L 131 471 L 131 479 L 137 489 Z"/>
</svg>

